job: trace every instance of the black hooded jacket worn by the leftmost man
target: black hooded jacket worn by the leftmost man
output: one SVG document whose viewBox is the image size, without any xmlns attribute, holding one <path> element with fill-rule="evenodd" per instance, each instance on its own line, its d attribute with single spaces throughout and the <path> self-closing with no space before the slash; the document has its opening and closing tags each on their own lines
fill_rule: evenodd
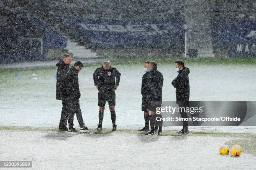
<svg viewBox="0 0 256 170">
<path fill-rule="evenodd" d="M 58 67 L 56 73 L 56 100 L 64 100 L 65 76 L 69 71 L 69 64 L 65 64 L 63 60 L 59 60 L 56 66 Z"/>
</svg>

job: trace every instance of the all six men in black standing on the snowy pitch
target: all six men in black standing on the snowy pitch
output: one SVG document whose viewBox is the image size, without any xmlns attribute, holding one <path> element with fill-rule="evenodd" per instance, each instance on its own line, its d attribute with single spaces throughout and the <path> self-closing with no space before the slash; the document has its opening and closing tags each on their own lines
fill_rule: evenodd
<svg viewBox="0 0 256 170">
<path fill-rule="evenodd" d="M 62 101 L 59 131 L 78 132 L 73 127 L 74 114 L 76 114 L 80 132 L 90 132 L 91 130 L 84 125 L 79 104 L 81 94 L 79 90 L 78 72 L 84 66 L 82 62 L 77 61 L 73 67 L 69 68 L 71 61 L 71 55 L 64 54 L 62 55 L 62 59 L 56 64 L 58 67 L 56 75 L 56 99 Z M 179 104 L 179 107 L 187 107 L 189 101 L 189 69 L 184 66 L 182 60 L 175 62 L 175 69 L 179 74 L 172 81 L 172 85 L 176 88 L 177 104 Z M 161 107 L 162 104 L 164 77 L 157 70 L 157 63 L 154 61 L 146 61 L 144 63 L 144 71 L 146 73 L 142 77 L 141 94 L 145 127 L 140 131 L 150 130 L 146 135 L 154 135 L 158 131 L 157 134 L 162 135 L 162 115 L 156 114 L 156 108 Z M 120 75 L 120 72 L 115 67 L 111 67 L 110 61 L 104 61 L 102 67 L 97 68 L 93 74 L 94 85 L 98 90 L 99 124 L 97 125 L 97 130 L 102 130 L 106 102 L 108 102 L 111 113 L 112 130 L 116 130 L 115 90 L 118 88 Z M 180 114 L 184 118 L 187 117 L 186 112 L 181 112 Z M 67 128 L 67 120 L 69 128 Z M 189 133 L 187 121 L 183 121 L 183 129 L 178 133 Z"/>
</svg>

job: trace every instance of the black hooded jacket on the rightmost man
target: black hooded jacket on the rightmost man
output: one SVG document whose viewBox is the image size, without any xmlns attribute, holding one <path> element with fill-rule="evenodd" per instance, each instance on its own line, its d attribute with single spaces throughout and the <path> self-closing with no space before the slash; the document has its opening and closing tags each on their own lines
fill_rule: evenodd
<svg viewBox="0 0 256 170">
<path fill-rule="evenodd" d="M 184 67 L 178 71 L 177 77 L 172 80 L 172 85 L 176 88 L 177 101 L 189 101 L 189 68 Z"/>
</svg>

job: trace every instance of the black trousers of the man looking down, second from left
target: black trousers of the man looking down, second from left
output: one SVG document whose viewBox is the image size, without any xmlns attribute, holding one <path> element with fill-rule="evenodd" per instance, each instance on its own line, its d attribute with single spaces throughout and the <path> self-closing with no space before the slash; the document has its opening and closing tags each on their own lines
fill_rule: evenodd
<svg viewBox="0 0 256 170">
<path fill-rule="evenodd" d="M 74 126 L 74 114 L 77 115 L 77 120 L 80 128 L 84 127 L 84 120 L 82 117 L 82 111 L 80 108 L 79 99 L 76 97 L 68 98 L 68 108 L 69 108 L 69 129 Z"/>
</svg>

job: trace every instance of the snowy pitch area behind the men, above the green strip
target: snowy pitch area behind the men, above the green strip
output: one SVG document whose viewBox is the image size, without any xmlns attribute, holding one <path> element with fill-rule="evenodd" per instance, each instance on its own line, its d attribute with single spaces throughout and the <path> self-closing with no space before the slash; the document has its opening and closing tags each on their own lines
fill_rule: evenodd
<svg viewBox="0 0 256 170">
<path fill-rule="evenodd" d="M 100 65 L 99 65 L 100 67 Z M 116 123 L 118 128 L 141 128 L 142 65 L 113 65 L 121 72 L 116 90 Z M 190 68 L 190 100 L 256 100 L 256 66 L 253 65 L 187 65 Z M 88 127 L 98 123 L 97 90 L 92 74 L 97 67 L 85 67 L 79 73 L 80 105 Z M 174 65 L 159 64 L 164 75 L 163 100 L 176 100 L 172 80 L 177 76 Z M 33 80 L 32 74 L 38 80 Z M 20 77 L 14 77 L 20 75 Z M 0 77 L 0 125 L 57 127 L 61 101 L 55 100 L 56 68 L 13 70 Z M 74 125 L 78 127 L 75 118 Z M 108 105 L 103 128 L 112 125 Z M 176 127 L 177 128 L 177 127 Z M 218 128 L 218 127 L 217 127 Z M 234 128 L 236 129 L 236 128 Z M 218 129 L 217 129 L 218 130 Z M 254 128 L 255 130 L 255 128 Z"/>
</svg>

